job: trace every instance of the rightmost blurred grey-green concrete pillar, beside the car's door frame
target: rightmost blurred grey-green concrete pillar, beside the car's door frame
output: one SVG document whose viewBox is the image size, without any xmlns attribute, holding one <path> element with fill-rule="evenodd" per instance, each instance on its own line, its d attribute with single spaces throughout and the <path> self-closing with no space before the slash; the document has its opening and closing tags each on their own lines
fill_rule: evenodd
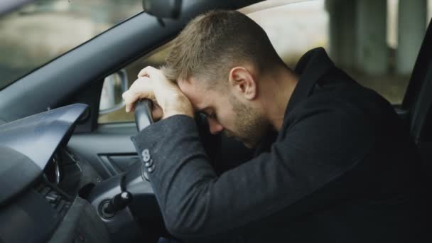
<svg viewBox="0 0 432 243">
<path fill-rule="evenodd" d="M 426 0 L 399 0 L 396 72 L 409 75 L 426 32 Z"/>
</svg>

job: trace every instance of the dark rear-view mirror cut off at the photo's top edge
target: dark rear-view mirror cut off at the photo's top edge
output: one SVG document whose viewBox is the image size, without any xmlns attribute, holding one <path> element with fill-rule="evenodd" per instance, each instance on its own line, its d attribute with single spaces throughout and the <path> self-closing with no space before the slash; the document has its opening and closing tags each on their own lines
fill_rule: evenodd
<svg viewBox="0 0 432 243">
<path fill-rule="evenodd" d="M 143 8 L 157 18 L 178 18 L 181 0 L 143 0 Z"/>
</svg>

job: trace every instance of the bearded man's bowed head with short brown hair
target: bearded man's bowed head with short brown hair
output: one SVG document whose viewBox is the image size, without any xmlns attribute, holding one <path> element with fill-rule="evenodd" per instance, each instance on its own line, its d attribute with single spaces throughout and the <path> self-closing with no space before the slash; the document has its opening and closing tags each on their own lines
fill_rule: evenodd
<svg viewBox="0 0 432 243">
<path fill-rule="evenodd" d="M 210 11 L 175 38 L 163 71 L 207 115 L 212 133 L 252 147 L 271 127 L 264 82 L 280 68 L 286 66 L 257 23 L 237 11 Z"/>
</svg>

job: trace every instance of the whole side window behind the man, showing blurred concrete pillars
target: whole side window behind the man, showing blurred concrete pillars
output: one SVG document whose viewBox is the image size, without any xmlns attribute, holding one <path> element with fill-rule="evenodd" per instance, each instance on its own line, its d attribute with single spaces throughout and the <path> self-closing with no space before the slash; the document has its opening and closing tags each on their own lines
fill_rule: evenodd
<svg viewBox="0 0 432 243">
<path fill-rule="evenodd" d="M 264 28 L 289 67 L 321 46 L 357 82 L 401 104 L 431 19 L 431 0 L 318 0 L 257 11 L 260 4 L 266 3 L 241 11 Z"/>
</svg>

